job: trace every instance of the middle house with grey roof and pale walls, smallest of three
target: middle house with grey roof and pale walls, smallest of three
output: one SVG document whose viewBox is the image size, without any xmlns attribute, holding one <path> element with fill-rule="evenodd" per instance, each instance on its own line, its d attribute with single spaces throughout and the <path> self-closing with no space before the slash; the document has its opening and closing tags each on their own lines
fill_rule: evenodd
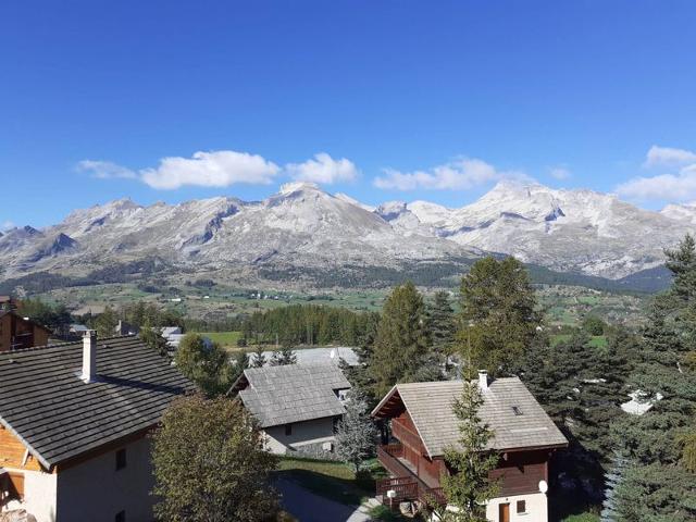
<svg viewBox="0 0 696 522">
<path fill-rule="evenodd" d="M 348 389 L 334 364 L 286 364 L 247 369 L 231 391 L 257 418 L 272 452 L 331 458 Z"/>
</svg>

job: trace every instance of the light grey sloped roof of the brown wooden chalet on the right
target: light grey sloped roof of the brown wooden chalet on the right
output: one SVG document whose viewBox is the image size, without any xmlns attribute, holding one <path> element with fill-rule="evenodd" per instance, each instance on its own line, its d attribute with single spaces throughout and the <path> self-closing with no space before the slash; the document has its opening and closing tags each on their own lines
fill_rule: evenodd
<svg viewBox="0 0 696 522">
<path fill-rule="evenodd" d="M 386 405 L 399 400 L 408 410 L 431 458 L 457 446 L 460 437 L 452 403 L 461 395 L 461 381 L 397 384 L 372 411 L 390 417 Z M 483 391 L 478 412 L 494 432 L 488 447 L 512 450 L 567 446 L 568 440 L 519 377 L 493 381 Z M 513 407 L 520 414 L 515 413 Z"/>
</svg>

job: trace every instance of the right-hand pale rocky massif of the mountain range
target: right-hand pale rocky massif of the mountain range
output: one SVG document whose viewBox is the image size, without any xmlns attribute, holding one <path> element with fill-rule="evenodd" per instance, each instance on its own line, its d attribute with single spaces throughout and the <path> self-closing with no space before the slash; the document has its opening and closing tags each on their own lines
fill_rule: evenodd
<svg viewBox="0 0 696 522">
<path fill-rule="evenodd" d="M 459 245 L 609 278 L 661 264 L 662 249 L 694 228 L 614 196 L 512 182 L 461 209 L 414 202 L 405 211 Z"/>
</svg>

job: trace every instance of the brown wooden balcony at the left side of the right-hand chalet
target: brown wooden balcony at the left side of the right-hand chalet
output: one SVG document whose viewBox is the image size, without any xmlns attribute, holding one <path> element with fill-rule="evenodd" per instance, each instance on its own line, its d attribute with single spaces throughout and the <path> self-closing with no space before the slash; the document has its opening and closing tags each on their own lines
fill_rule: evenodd
<svg viewBox="0 0 696 522">
<path fill-rule="evenodd" d="M 447 504 L 442 487 L 430 487 L 419 476 L 413 464 L 403 458 L 401 444 L 387 444 L 377 447 L 377 460 L 393 475 L 376 483 L 377 498 L 382 504 L 398 506 L 402 501 L 420 500 L 424 504 Z M 393 489 L 396 496 L 387 499 L 387 492 Z"/>
</svg>

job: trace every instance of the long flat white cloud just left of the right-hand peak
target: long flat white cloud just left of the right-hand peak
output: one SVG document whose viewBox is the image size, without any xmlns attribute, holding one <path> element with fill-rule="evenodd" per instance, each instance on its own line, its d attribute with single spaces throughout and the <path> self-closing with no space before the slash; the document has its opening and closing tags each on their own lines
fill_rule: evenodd
<svg viewBox="0 0 696 522">
<path fill-rule="evenodd" d="M 464 190 L 505 178 L 529 179 L 520 172 L 500 172 L 483 160 L 463 158 L 427 171 L 400 172 L 386 169 L 374 179 L 377 188 L 414 190 Z"/>
</svg>

